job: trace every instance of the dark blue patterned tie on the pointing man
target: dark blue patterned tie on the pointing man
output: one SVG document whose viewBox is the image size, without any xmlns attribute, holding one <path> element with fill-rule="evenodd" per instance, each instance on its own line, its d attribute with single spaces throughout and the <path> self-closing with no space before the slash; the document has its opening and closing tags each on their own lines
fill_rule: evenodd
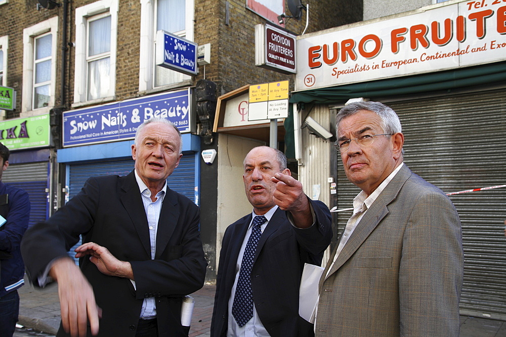
<svg viewBox="0 0 506 337">
<path fill-rule="evenodd" d="M 234 304 L 232 305 L 232 315 L 239 326 L 246 324 L 253 317 L 253 294 L 251 292 L 251 267 L 253 259 L 257 251 L 258 240 L 262 235 L 260 226 L 267 219 L 263 215 L 256 216 L 253 219 L 253 228 L 249 236 L 242 256 L 241 269 L 239 271 L 239 279 L 237 280 L 237 289 L 234 296 Z"/>
</svg>

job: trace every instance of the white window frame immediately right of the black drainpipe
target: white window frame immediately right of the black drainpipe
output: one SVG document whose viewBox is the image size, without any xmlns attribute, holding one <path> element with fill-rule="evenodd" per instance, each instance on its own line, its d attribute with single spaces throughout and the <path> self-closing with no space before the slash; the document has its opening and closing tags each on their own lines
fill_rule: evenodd
<svg viewBox="0 0 506 337">
<path fill-rule="evenodd" d="M 88 18 L 107 13 L 111 15 L 111 52 L 109 92 L 106 97 L 88 100 Z M 118 26 L 118 0 L 100 0 L 75 9 L 75 69 L 74 103 L 72 107 L 114 101 L 116 90 L 116 50 Z"/>
</svg>

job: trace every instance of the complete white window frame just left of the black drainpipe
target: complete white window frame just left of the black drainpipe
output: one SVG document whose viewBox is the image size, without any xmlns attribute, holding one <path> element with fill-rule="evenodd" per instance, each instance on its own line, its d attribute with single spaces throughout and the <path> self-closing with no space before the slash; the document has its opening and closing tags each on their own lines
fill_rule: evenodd
<svg viewBox="0 0 506 337">
<path fill-rule="evenodd" d="M 50 98 L 47 107 L 33 109 L 33 65 L 35 50 L 35 37 L 51 33 L 51 83 L 49 86 Z M 56 53 L 58 43 L 58 17 L 55 16 L 36 25 L 23 29 L 23 88 L 20 117 L 28 117 L 49 113 L 55 106 L 56 90 Z"/>
</svg>

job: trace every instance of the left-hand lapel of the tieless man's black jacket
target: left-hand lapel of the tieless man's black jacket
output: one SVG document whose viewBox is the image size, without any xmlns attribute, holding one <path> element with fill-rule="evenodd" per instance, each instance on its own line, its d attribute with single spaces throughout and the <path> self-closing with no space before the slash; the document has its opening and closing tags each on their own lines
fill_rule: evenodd
<svg viewBox="0 0 506 337">
<path fill-rule="evenodd" d="M 132 219 L 146 253 L 151 256 L 148 219 L 146 218 L 146 211 L 144 210 L 141 192 L 135 180 L 134 171 L 130 172 L 128 176 L 120 178 L 120 188 L 122 192 L 120 196 L 121 202 Z"/>
</svg>

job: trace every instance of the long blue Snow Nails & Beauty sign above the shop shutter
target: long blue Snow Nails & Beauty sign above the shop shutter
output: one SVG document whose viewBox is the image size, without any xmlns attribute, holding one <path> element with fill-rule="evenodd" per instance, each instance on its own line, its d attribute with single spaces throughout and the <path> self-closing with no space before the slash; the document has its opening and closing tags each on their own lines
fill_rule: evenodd
<svg viewBox="0 0 506 337">
<path fill-rule="evenodd" d="M 132 139 L 137 127 L 153 118 L 170 120 L 182 132 L 192 132 L 192 89 L 166 92 L 63 113 L 63 146 Z"/>
</svg>

